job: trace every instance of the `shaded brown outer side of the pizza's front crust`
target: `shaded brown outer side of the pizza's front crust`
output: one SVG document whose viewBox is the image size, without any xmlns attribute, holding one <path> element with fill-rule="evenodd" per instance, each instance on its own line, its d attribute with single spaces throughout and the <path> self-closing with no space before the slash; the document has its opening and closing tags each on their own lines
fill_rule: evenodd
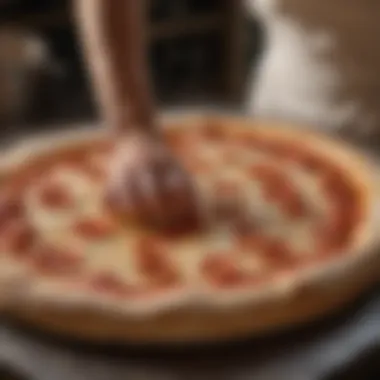
<svg viewBox="0 0 380 380">
<path fill-rule="evenodd" d="M 375 265 L 376 264 L 376 265 Z M 291 299 L 238 309 L 177 310 L 155 318 L 128 320 L 78 310 L 15 309 L 10 316 L 39 330 L 96 343 L 203 343 L 262 335 L 311 322 L 340 310 L 380 277 L 380 260 L 340 286 L 300 290 Z"/>
</svg>

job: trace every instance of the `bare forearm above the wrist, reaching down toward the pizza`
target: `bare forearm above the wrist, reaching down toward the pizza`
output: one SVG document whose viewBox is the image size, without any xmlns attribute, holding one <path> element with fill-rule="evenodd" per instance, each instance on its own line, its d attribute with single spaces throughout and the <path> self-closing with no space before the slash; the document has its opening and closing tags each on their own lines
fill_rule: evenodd
<svg viewBox="0 0 380 380">
<path fill-rule="evenodd" d="M 144 3 L 142 0 L 74 2 L 102 117 L 119 132 L 131 126 L 153 126 Z"/>
</svg>

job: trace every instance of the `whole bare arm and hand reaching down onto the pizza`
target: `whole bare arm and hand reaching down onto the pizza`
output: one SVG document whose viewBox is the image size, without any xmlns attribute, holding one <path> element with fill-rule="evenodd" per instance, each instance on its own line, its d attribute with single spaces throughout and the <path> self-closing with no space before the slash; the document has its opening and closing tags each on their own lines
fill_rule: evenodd
<svg viewBox="0 0 380 380">
<path fill-rule="evenodd" d="M 127 137 L 118 138 L 109 165 L 110 203 L 117 213 L 143 223 L 178 226 L 182 219 L 188 225 L 197 216 L 192 183 L 156 134 L 145 59 L 145 0 L 74 1 L 102 116 Z"/>
</svg>

